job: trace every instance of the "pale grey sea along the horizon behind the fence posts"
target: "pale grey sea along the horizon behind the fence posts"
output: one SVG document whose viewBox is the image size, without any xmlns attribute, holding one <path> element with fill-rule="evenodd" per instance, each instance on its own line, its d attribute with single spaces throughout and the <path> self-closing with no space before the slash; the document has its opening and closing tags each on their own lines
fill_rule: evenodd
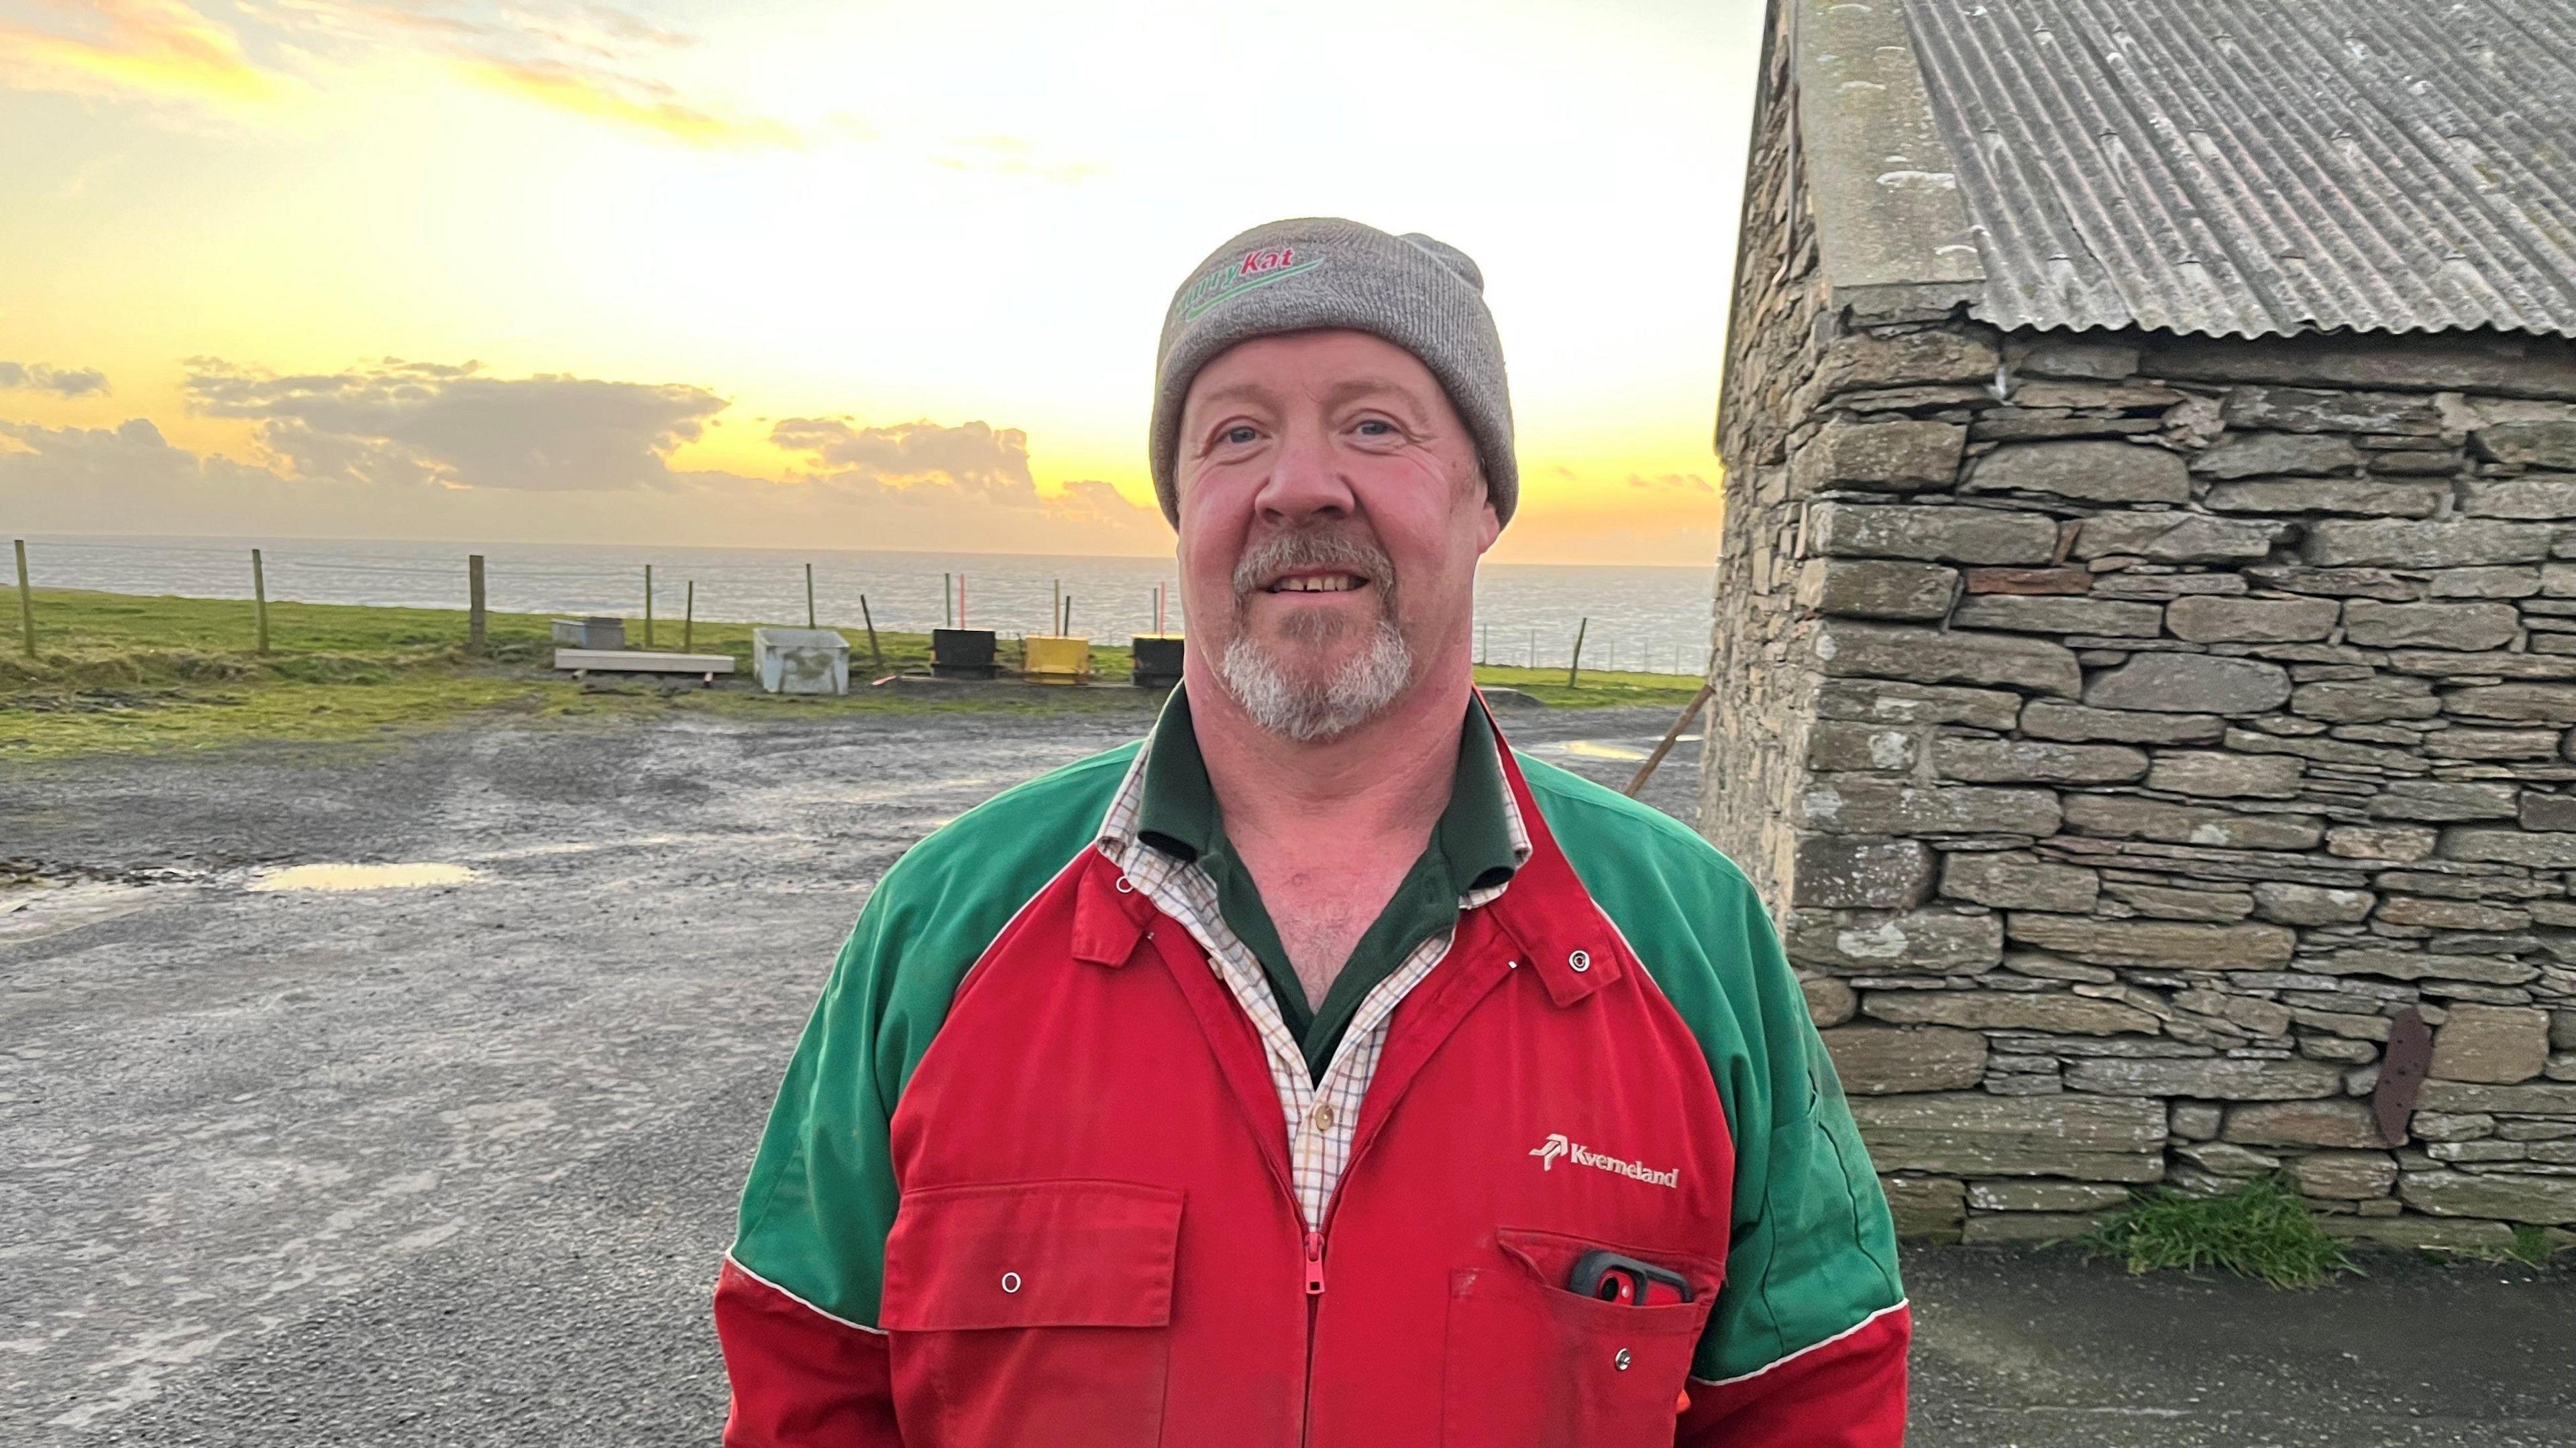
<svg viewBox="0 0 2576 1448">
<path fill-rule="evenodd" d="M 675 549 L 626 544 L 422 544 L 371 538 L 28 536 L 36 587 L 250 598 L 250 549 L 270 600 L 464 608 L 466 554 L 484 557 L 495 613 L 641 618 L 652 567 L 657 621 L 804 624 L 920 634 L 961 621 L 1046 634 L 1059 598 L 1072 631 L 1126 642 L 1182 631 L 1170 557 L 904 554 L 848 549 Z M 1484 564 L 1476 575 L 1479 662 L 1698 675 L 1708 657 L 1710 567 Z M 963 595 L 963 605 L 961 605 Z M 1159 611 L 1159 616 L 1157 616 Z"/>
</svg>

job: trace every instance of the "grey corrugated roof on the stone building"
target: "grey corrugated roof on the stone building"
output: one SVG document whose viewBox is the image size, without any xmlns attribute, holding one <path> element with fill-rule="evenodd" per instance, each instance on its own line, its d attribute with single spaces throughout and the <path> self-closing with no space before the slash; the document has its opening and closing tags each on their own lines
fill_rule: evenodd
<svg viewBox="0 0 2576 1448">
<path fill-rule="evenodd" d="M 2576 0 L 1904 0 L 2004 327 L 2576 335 Z"/>
</svg>

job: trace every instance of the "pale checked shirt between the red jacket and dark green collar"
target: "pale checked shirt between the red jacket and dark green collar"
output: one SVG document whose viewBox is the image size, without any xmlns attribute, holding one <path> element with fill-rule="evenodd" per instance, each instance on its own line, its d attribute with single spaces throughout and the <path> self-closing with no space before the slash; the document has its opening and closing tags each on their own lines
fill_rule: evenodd
<svg viewBox="0 0 2576 1448">
<path fill-rule="evenodd" d="M 1177 920 L 1208 951 L 1208 969 L 1216 971 L 1216 979 L 1226 982 L 1234 1002 L 1252 1018 L 1252 1028 L 1260 1031 L 1262 1054 L 1270 1059 L 1270 1085 L 1280 1092 L 1280 1118 L 1288 1129 L 1288 1170 L 1296 1183 L 1298 1208 L 1306 1214 L 1306 1226 L 1319 1232 L 1324 1226 L 1324 1206 L 1332 1203 L 1332 1190 L 1342 1183 L 1342 1170 L 1350 1165 L 1350 1141 L 1360 1126 L 1360 1100 L 1368 1098 L 1368 1082 L 1378 1074 L 1378 1054 L 1386 1049 L 1386 1023 L 1396 1015 L 1396 1005 L 1448 956 L 1458 928 L 1453 922 L 1448 930 L 1425 938 L 1360 1000 L 1360 1010 L 1342 1033 L 1332 1064 L 1316 1080 L 1306 1069 L 1306 1051 L 1298 1046 L 1296 1033 L 1288 1031 L 1288 1018 L 1280 1015 L 1278 995 L 1273 995 L 1260 958 L 1226 925 L 1226 915 L 1216 904 L 1216 881 L 1195 861 L 1172 858 L 1136 835 L 1136 812 L 1144 804 L 1144 768 L 1151 752 L 1154 742 L 1146 739 L 1118 783 L 1118 796 L 1100 822 L 1100 850 L 1118 863 L 1126 879 L 1157 910 Z M 1528 861 L 1530 830 L 1520 819 L 1520 801 L 1512 799 L 1510 786 L 1502 788 L 1502 812 L 1512 832 L 1512 858 Z M 1510 884 L 1510 879 L 1502 879 L 1499 884 L 1471 889 L 1458 897 L 1458 910 L 1492 904 L 1502 899 Z"/>
</svg>

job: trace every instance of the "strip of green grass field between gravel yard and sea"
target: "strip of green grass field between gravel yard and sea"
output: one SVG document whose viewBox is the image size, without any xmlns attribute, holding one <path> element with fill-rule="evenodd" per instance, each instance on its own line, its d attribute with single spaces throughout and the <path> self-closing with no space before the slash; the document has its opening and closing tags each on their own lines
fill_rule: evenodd
<svg viewBox="0 0 2576 1448">
<path fill-rule="evenodd" d="M 15 626 L 15 618 L 8 618 Z M 752 624 L 654 624 L 654 647 L 732 654 L 750 678 Z M 435 729 L 461 716 L 502 711 L 536 719 L 621 719 L 670 711 L 806 716 L 811 711 L 1066 711 L 1121 706 L 1100 691 L 1030 688 L 1018 698 L 925 701 L 858 688 L 878 670 L 866 631 L 850 639 L 848 698 L 778 698 L 755 688 L 672 688 L 654 683 L 580 685 L 549 665 L 549 616 L 492 613 L 487 649 L 466 652 L 466 616 L 448 608 L 368 608 L 270 603 L 268 654 L 258 652 L 252 608 L 227 598 L 137 598 L 124 593 L 36 590 L 36 657 L 15 629 L 0 639 L 0 760 L 54 760 L 95 752 L 209 750 L 252 739 L 371 739 Z M 626 642 L 644 644 L 641 621 Z M 878 634 L 886 670 L 930 662 L 927 634 Z M 1002 642 L 1015 662 L 1015 644 Z M 1128 649 L 1092 647 L 1103 680 L 1128 678 Z M 1587 672 L 1566 688 L 1561 670 L 1476 670 L 1479 683 L 1522 688 L 1556 706 L 1690 701 L 1698 680 L 1638 672 Z"/>
</svg>

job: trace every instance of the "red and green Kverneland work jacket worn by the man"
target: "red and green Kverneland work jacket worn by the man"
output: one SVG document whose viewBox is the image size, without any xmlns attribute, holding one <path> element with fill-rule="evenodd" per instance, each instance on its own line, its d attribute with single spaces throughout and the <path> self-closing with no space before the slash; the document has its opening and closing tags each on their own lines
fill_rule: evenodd
<svg viewBox="0 0 2576 1448">
<path fill-rule="evenodd" d="M 1901 1443 L 1886 1203 L 1731 863 L 1504 750 L 1533 855 L 1309 1232 L 1249 1018 L 1095 843 L 1131 755 L 868 899 L 716 1288 L 729 1445 Z M 1600 1247 L 1692 1301 L 1577 1296 Z"/>
</svg>

